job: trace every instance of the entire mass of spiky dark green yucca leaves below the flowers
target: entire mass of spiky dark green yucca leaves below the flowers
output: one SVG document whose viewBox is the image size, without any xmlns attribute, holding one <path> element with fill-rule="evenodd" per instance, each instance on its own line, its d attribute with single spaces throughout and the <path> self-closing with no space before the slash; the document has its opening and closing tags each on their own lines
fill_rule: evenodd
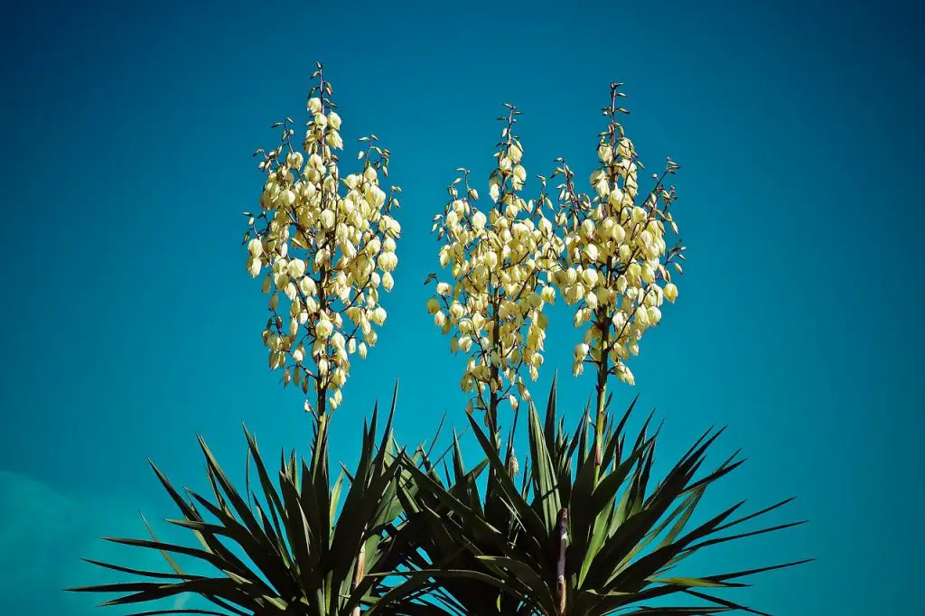
<svg viewBox="0 0 925 616">
<path fill-rule="evenodd" d="M 249 472 L 243 495 L 200 439 L 210 498 L 187 490 L 185 499 L 154 468 L 183 515 L 168 522 L 190 529 L 200 546 L 161 542 L 150 526 L 151 540 L 110 538 L 160 551 L 172 572 L 95 562 L 140 581 L 72 590 L 119 595 L 104 605 L 191 593 L 216 606 L 137 614 L 764 613 L 713 593 L 744 585 L 738 580 L 748 575 L 797 562 L 695 577 L 672 569 L 700 549 L 799 524 L 727 532 L 789 501 L 735 517 L 739 503 L 688 527 L 706 489 L 742 462 L 733 457 L 705 470 L 707 452 L 722 433 L 708 431 L 653 486 L 658 430 L 650 434 L 649 416 L 628 439 L 625 428 L 634 406 L 635 400 L 616 425 L 607 425 L 598 473 L 588 412 L 566 433 L 556 408 L 555 381 L 545 418 L 533 406 L 527 412 L 529 455 L 520 477 L 512 448 L 516 413 L 503 453 L 497 437 L 469 416 L 484 459 L 467 469 L 455 433 L 449 450 L 438 457 L 423 447 L 413 455 L 399 450 L 389 430 L 393 399 L 384 435 L 376 443 L 374 411 L 370 425 L 364 425 L 355 472 L 341 473 L 333 484 L 324 421 L 316 425 L 311 464 L 297 461 L 293 453 L 281 460 L 276 483 L 245 430 L 249 467 L 253 459 L 259 488 L 252 491 Z M 349 487 L 338 511 L 345 483 Z M 246 555 L 246 561 L 236 553 Z M 177 554 L 216 573 L 185 573 L 172 557 Z M 661 607 L 665 598 L 678 602 Z M 660 607 L 647 607 L 653 600 Z"/>
</svg>

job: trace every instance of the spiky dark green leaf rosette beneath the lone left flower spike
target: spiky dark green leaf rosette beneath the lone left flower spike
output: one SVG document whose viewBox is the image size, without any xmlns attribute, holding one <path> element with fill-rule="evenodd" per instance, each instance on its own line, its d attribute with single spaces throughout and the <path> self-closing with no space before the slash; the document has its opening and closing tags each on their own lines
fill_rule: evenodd
<svg viewBox="0 0 925 616">
<path fill-rule="evenodd" d="M 154 473 L 177 504 L 182 518 L 170 524 L 190 529 L 201 544 L 188 547 L 158 540 L 150 525 L 149 539 L 109 538 L 118 544 L 160 551 L 171 572 L 132 569 L 91 561 L 129 573 L 139 581 L 70 588 L 72 591 L 118 593 L 103 605 L 144 603 L 181 594 L 199 595 L 219 610 L 155 610 L 139 613 L 297 614 L 335 616 L 359 613 L 387 590 L 384 579 L 365 573 L 401 566 L 406 554 L 391 536 L 401 504 L 396 488 L 401 452 L 388 421 L 376 446 L 377 409 L 364 425 L 363 453 L 353 474 L 341 472 L 331 484 L 328 475 L 327 425 L 315 426 L 311 465 L 293 452 L 282 457 L 274 478 L 253 436 L 245 434 L 248 461 L 253 459 L 259 488 L 251 489 L 250 468 L 242 494 L 216 462 L 205 441 L 200 445 L 212 487 L 211 498 L 186 490 L 185 499 L 154 463 Z M 249 463 L 250 467 L 251 464 Z M 342 487 L 347 484 L 342 507 Z M 407 492 L 407 489 L 405 490 Z M 258 498 L 259 496 L 262 498 Z M 201 508 L 201 509 L 200 509 Z M 174 559 L 187 557 L 216 570 L 212 575 L 184 571 Z M 245 557 L 245 558 L 241 558 Z M 198 567 L 197 567 L 198 569 Z"/>
</svg>

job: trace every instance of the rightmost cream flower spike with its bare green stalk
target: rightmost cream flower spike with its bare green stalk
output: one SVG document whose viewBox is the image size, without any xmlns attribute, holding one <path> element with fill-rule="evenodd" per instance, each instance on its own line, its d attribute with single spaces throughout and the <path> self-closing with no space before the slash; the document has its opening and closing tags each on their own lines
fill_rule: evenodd
<svg viewBox="0 0 925 616">
<path fill-rule="evenodd" d="M 593 196 L 575 191 L 573 171 L 561 159 L 553 174 L 562 178 L 557 222 L 565 244 L 555 281 L 565 302 L 576 307 L 574 325 L 585 328 L 574 349 L 573 373 L 581 374 L 585 364 L 597 373 L 598 464 L 607 377 L 634 384 L 625 362 L 638 354 L 643 333 L 658 325 L 662 302 L 677 297 L 670 265 L 680 273 L 678 261 L 684 260 L 684 247 L 678 243 L 669 249 L 666 242 L 669 232 L 677 236 L 678 230 L 671 213 L 674 188 L 666 188 L 664 180 L 678 166 L 668 159 L 664 172 L 652 176 L 654 188 L 640 198 L 637 176 L 644 167 L 617 121 L 628 113 L 617 106 L 620 85 L 611 84 L 611 105 L 602 110 L 610 122 L 599 136 L 600 166 L 590 178 Z"/>
</svg>

